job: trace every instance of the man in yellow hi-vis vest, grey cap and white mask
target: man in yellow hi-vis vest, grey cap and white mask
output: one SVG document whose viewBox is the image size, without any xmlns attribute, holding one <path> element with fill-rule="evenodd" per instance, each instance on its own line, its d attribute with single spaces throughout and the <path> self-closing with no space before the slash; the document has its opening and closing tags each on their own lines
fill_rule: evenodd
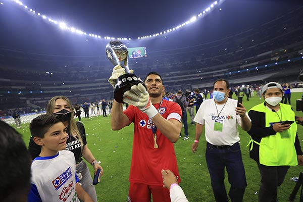
<svg viewBox="0 0 303 202">
<path fill-rule="evenodd" d="M 257 162 L 261 174 L 259 202 L 278 201 L 278 186 L 283 183 L 289 166 L 303 166 L 294 112 L 290 105 L 280 103 L 282 92 L 279 83 L 267 83 L 263 86 L 265 102 L 248 112 L 249 156 Z M 294 122 L 283 124 L 284 121 Z"/>
</svg>

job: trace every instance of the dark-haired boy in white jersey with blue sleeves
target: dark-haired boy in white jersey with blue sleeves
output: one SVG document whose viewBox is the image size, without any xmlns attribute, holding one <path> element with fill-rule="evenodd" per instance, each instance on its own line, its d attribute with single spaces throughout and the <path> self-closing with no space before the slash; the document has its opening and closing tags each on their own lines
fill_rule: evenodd
<svg viewBox="0 0 303 202">
<path fill-rule="evenodd" d="M 62 118 L 40 115 L 30 123 L 30 132 L 41 146 L 31 165 L 32 179 L 28 201 L 93 201 L 78 183 L 75 158 L 64 150 L 68 135 Z"/>
</svg>

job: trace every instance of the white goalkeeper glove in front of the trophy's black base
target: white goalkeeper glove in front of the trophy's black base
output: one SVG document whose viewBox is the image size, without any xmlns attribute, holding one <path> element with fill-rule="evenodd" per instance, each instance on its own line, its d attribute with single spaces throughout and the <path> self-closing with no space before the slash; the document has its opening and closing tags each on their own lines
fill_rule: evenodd
<svg viewBox="0 0 303 202">
<path fill-rule="evenodd" d="M 133 85 L 130 90 L 125 91 L 123 102 L 138 107 L 150 119 L 153 119 L 158 114 L 158 110 L 151 104 L 149 94 L 142 83 Z"/>
</svg>

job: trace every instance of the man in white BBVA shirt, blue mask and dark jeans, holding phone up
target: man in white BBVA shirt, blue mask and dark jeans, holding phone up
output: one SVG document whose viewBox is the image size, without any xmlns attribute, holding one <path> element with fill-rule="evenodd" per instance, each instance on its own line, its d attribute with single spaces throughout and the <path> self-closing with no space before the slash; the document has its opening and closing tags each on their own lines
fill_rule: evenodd
<svg viewBox="0 0 303 202">
<path fill-rule="evenodd" d="M 242 104 L 228 98 L 229 82 L 218 79 L 214 82 L 212 99 L 205 100 L 195 118 L 195 140 L 191 145 L 193 153 L 198 147 L 200 135 L 205 126 L 207 141 L 206 162 L 211 176 L 216 201 L 228 201 L 225 185 L 225 167 L 230 183 L 231 201 L 242 201 L 246 187 L 246 177 L 242 162 L 237 124 L 245 131 L 250 130 L 251 121 Z"/>
</svg>

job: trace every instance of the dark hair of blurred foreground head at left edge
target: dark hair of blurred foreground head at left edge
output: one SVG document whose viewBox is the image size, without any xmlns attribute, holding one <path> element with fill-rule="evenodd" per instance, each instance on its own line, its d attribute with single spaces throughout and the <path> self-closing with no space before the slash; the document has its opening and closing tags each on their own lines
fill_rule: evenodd
<svg viewBox="0 0 303 202">
<path fill-rule="evenodd" d="M 0 121 L 0 198 L 26 201 L 30 188 L 31 159 L 20 133 Z"/>
</svg>

